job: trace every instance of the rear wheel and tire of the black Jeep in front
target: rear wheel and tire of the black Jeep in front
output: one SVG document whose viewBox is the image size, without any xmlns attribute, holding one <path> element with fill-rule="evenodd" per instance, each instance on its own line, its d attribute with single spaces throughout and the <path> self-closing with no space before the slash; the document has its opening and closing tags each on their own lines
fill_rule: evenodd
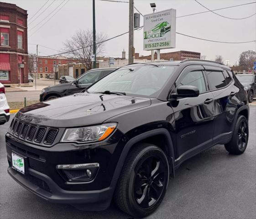
<svg viewBox="0 0 256 219">
<path fill-rule="evenodd" d="M 239 115 L 235 123 L 232 139 L 229 143 L 225 144 L 226 150 L 229 151 L 230 154 L 242 154 L 246 150 L 248 137 L 248 121 L 245 116 Z"/>
</svg>

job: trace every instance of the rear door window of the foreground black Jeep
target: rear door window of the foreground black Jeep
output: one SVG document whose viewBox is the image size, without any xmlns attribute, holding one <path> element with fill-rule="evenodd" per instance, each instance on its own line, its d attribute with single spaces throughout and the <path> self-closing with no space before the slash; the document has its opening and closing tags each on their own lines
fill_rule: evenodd
<svg viewBox="0 0 256 219">
<path fill-rule="evenodd" d="M 227 85 L 224 75 L 220 71 L 206 71 L 211 90 L 220 89 Z"/>
</svg>

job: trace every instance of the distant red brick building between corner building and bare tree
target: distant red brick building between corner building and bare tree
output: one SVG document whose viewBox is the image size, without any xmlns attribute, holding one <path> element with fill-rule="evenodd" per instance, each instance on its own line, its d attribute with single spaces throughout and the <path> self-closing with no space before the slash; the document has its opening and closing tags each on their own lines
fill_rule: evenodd
<svg viewBox="0 0 256 219">
<path fill-rule="evenodd" d="M 33 62 L 33 57 L 29 57 L 29 62 Z M 48 75 L 51 75 L 56 72 L 58 73 L 58 65 L 68 64 L 68 63 L 78 63 L 77 59 L 67 58 L 64 56 L 58 57 L 38 57 L 37 63 L 37 77 L 47 78 Z M 29 72 L 34 74 L 33 65 L 29 65 Z M 56 75 L 58 78 L 58 75 Z"/>
</svg>

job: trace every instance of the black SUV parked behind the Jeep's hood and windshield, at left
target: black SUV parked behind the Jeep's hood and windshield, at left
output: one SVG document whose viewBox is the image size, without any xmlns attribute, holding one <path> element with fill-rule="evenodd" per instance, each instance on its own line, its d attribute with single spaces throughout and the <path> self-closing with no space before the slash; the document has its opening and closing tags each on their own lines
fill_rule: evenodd
<svg viewBox="0 0 256 219">
<path fill-rule="evenodd" d="M 58 97 L 78 93 L 89 87 L 92 83 L 96 82 L 100 78 L 106 76 L 110 72 L 113 72 L 115 69 L 116 68 L 92 69 L 82 74 L 75 81 L 48 86 L 42 89 L 40 94 L 40 101 L 42 102 L 48 99 L 55 99 Z"/>
</svg>

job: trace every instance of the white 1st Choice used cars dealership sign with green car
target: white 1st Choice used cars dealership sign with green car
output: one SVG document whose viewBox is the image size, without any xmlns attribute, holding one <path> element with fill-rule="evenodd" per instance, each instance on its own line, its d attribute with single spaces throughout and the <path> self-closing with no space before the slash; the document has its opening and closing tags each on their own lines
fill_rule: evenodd
<svg viewBox="0 0 256 219">
<path fill-rule="evenodd" d="M 176 10 L 145 15 L 143 32 L 144 50 L 175 48 Z"/>
</svg>

